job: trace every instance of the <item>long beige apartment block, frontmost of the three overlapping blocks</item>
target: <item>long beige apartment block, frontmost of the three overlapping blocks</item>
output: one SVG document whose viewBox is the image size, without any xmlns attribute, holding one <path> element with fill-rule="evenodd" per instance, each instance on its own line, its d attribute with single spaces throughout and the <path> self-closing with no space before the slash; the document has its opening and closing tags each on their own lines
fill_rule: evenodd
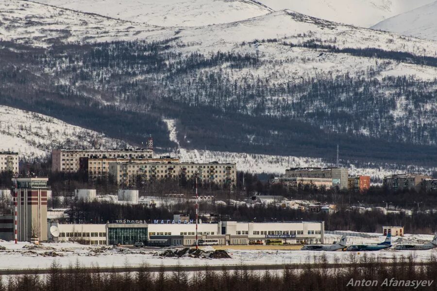
<svg viewBox="0 0 437 291">
<path fill-rule="evenodd" d="M 185 178 L 198 175 L 199 181 L 214 182 L 219 185 L 236 182 L 235 163 L 194 163 L 194 162 L 110 162 L 109 174 L 119 185 L 132 186 L 138 176 L 150 179 Z"/>
</svg>

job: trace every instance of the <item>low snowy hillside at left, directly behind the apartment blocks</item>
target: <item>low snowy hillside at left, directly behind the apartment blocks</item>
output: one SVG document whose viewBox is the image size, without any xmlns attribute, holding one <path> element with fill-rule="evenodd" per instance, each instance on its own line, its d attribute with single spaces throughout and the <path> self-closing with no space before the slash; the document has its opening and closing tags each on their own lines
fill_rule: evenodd
<svg viewBox="0 0 437 291">
<path fill-rule="evenodd" d="M 56 118 L 0 105 L 0 150 L 20 156 L 43 157 L 52 148 L 114 148 L 125 143 Z"/>
</svg>

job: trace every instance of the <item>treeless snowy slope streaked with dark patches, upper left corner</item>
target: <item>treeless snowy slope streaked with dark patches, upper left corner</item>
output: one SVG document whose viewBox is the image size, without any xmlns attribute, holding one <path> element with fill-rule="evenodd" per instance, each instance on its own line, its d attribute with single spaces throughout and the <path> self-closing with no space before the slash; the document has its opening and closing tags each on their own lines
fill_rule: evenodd
<svg viewBox="0 0 437 291">
<path fill-rule="evenodd" d="M 78 13 L 30 1 L 0 1 L 0 40 L 32 46 L 151 36 L 160 28 Z M 162 37 L 163 34 L 160 33 Z"/>
</svg>

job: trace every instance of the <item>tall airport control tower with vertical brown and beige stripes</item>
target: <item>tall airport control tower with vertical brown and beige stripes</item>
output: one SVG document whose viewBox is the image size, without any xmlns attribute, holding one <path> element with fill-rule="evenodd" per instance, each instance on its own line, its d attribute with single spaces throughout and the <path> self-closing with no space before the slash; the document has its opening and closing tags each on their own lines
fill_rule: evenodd
<svg viewBox="0 0 437 291">
<path fill-rule="evenodd" d="M 17 178 L 17 236 L 20 242 L 47 241 L 48 180 Z M 15 179 L 13 181 L 15 184 Z"/>
</svg>

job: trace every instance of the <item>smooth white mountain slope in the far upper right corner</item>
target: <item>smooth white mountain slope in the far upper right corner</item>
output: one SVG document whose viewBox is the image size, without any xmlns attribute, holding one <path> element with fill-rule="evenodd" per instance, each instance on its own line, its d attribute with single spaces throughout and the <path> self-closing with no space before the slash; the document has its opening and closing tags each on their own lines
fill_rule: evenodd
<svg viewBox="0 0 437 291">
<path fill-rule="evenodd" d="M 437 1 L 381 21 L 372 29 L 437 40 Z"/>
</svg>

